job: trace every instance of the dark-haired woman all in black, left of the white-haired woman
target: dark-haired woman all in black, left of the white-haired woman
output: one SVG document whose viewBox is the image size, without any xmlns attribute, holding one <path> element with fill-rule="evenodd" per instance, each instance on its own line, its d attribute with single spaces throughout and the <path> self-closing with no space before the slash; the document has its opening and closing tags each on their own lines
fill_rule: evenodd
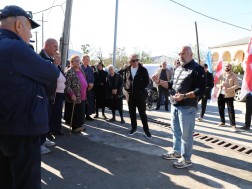
<svg viewBox="0 0 252 189">
<path fill-rule="evenodd" d="M 94 95 L 95 95 L 95 118 L 99 117 L 98 109 L 102 109 L 103 119 L 107 119 L 105 116 L 105 102 L 106 102 L 106 79 L 108 73 L 103 70 L 102 62 L 97 64 L 97 70 L 94 72 Z"/>
</svg>

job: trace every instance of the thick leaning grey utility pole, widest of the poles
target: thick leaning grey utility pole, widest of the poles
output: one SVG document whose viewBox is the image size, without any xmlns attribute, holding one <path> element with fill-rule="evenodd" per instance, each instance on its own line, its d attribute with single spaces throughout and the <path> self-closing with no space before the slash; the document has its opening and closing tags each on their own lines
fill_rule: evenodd
<svg viewBox="0 0 252 189">
<path fill-rule="evenodd" d="M 60 39 L 61 66 L 62 66 L 63 70 L 66 67 L 66 62 L 67 62 L 67 58 L 68 58 L 72 4 L 73 4 L 72 0 L 67 0 L 63 36 Z"/>
</svg>

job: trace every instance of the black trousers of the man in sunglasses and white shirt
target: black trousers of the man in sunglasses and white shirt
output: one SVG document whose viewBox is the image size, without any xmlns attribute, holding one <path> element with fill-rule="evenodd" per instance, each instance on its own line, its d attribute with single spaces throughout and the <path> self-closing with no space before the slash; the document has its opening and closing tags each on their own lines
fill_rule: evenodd
<svg viewBox="0 0 252 189">
<path fill-rule="evenodd" d="M 149 131 L 146 115 L 146 97 L 144 95 L 140 96 L 134 94 L 127 94 L 126 99 L 128 101 L 132 129 L 137 129 L 137 118 L 136 118 L 136 108 L 137 108 L 143 124 L 143 130 L 145 132 Z"/>
</svg>

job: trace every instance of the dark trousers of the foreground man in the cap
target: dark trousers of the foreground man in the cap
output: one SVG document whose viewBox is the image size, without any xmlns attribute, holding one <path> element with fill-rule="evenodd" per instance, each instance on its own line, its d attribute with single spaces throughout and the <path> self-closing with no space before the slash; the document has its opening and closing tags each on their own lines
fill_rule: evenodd
<svg viewBox="0 0 252 189">
<path fill-rule="evenodd" d="M 39 136 L 0 135 L 0 188 L 41 188 Z"/>
</svg>

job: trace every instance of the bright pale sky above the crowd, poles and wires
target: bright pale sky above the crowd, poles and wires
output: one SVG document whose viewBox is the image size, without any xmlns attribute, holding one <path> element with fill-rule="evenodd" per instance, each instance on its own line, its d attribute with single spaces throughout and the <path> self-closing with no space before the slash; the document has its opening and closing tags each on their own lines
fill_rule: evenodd
<svg viewBox="0 0 252 189">
<path fill-rule="evenodd" d="M 250 0 L 174 0 L 195 11 L 233 25 L 251 29 Z M 0 8 L 15 4 L 34 13 L 44 12 L 44 38 L 59 40 L 64 23 L 65 0 L 1 0 Z M 70 48 L 82 44 L 101 49 L 104 57 L 113 52 L 116 0 L 73 0 Z M 34 14 L 41 23 L 42 13 Z M 117 47 L 128 54 L 144 50 L 152 56 L 169 55 L 185 44 L 195 45 L 195 22 L 202 49 L 250 36 L 251 32 L 206 18 L 170 0 L 119 0 Z M 38 32 L 38 49 L 42 28 Z M 35 39 L 33 31 L 33 39 Z"/>
</svg>

